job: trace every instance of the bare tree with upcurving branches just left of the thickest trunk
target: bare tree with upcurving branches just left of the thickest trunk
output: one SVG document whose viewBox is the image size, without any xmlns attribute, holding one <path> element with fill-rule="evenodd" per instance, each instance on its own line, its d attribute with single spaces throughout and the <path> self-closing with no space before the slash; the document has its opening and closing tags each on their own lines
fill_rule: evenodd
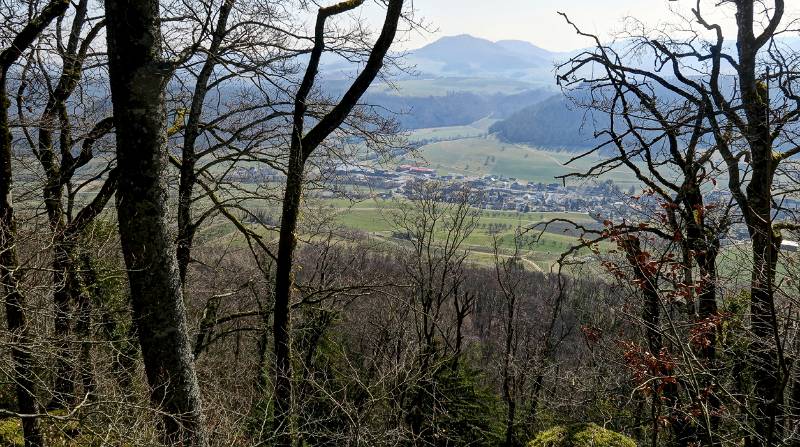
<svg viewBox="0 0 800 447">
<path fill-rule="evenodd" d="M 79 303 L 84 307 L 89 304 L 85 296 L 82 298 L 79 239 L 87 225 L 113 196 L 117 181 L 113 157 L 106 163 L 99 160 L 99 168 L 87 168 L 90 162 L 98 161 L 99 157 L 95 157 L 98 141 L 113 128 L 112 118 L 96 118 L 96 115 L 103 113 L 96 109 L 102 109 L 97 103 L 104 98 L 75 94 L 79 88 L 97 87 L 84 79 L 84 72 L 96 72 L 96 67 L 102 65 L 102 61 L 98 60 L 102 56 L 98 56 L 93 46 L 103 29 L 103 21 L 102 18 L 89 17 L 89 8 L 89 1 L 83 0 L 72 8 L 71 23 L 64 24 L 64 16 L 58 18 L 56 26 L 59 31 L 55 36 L 42 38 L 39 48 L 31 52 L 16 98 L 20 128 L 44 172 L 42 196 L 53 235 L 55 336 L 61 343 L 61 352 L 56 359 L 56 383 L 51 407 L 72 404 L 76 400 L 76 368 L 69 361 L 71 357 L 77 357 L 69 351 L 75 323 L 73 308 Z M 63 38 L 60 32 L 62 27 L 69 30 Z M 93 68 L 85 67 L 87 61 Z M 60 71 L 54 74 L 54 68 L 60 68 Z M 92 72 L 88 74 L 91 76 Z M 37 95 L 29 91 L 44 92 L 43 98 L 37 100 Z M 76 109 L 76 104 L 81 104 L 86 110 L 81 116 L 70 111 L 70 108 Z M 32 119 L 26 111 L 36 111 L 41 116 L 38 120 Z M 31 128 L 37 128 L 37 131 L 32 132 Z M 76 197 L 93 180 L 104 177 L 106 180 L 93 200 L 85 205 L 76 203 Z M 81 334 L 84 338 L 87 335 Z M 83 365 L 84 369 L 87 366 Z"/>
</svg>

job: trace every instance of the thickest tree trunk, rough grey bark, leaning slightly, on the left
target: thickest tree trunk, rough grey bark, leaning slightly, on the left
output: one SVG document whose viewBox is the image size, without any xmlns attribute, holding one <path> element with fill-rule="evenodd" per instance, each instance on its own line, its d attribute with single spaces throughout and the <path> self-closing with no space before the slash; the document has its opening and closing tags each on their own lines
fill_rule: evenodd
<svg viewBox="0 0 800 447">
<path fill-rule="evenodd" d="M 117 136 L 120 241 L 151 402 L 164 412 L 163 442 L 205 446 L 200 389 L 167 223 L 164 88 L 158 0 L 106 0 Z"/>
</svg>

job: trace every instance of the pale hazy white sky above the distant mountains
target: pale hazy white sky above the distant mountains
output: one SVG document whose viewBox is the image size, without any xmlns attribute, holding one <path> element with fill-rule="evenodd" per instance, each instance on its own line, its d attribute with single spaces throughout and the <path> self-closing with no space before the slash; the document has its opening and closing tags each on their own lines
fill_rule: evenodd
<svg viewBox="0 0 800 447">
<path fill-rule="evenodd" d="M 490 40 L 521 39 L 540 47 L 563 51 L 588 45 L 586 38 L 577 36 L 557 11 L 567 13 L 583 29 L 608 35 L 619 29 L 621 19 L 633 16 L 648 24 L 670 20 L 670 8 L 691 14 L 696 0 L 409 0 L 432 28 L 433 34 L 412 33 L 405 48 L 416 48 L 442 36 L 472 34 Z M 708 11 L 713 0 L 704 0 Z M 791 3 L 791 2 L 787 2 Z M 797 6 L 795 6 L 796 8 Z M 791 8 L 791 7 L 790 7 Z M 796 11 L 796 9 L 795 9 Z M 381 11 L 370 8 L 370 19 L 379 19 Z M 727 17 L 726 17 L 727 15 Z M 715 20 L 733 24 L 732 14 L 717 14 Z"/>
</svg>

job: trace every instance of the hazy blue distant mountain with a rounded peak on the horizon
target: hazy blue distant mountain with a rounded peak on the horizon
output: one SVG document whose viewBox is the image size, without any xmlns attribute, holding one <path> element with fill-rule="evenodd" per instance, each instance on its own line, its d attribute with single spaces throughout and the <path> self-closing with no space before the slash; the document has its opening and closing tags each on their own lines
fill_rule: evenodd
<svg viewBox="0 0 800 447">
<path fill-rule="evenodd" d="M 556 91 L 552 67 L 561 55 L 521 40 L 442 37 L 404 55 L 404 65 L 416 67 L 418 75 L 377 83 L 364 99 L 404 129 L 503 119 Z M 332 54 L 323 62 L 324 90 L 341 95 L 357 65 Z"/>
</svg>

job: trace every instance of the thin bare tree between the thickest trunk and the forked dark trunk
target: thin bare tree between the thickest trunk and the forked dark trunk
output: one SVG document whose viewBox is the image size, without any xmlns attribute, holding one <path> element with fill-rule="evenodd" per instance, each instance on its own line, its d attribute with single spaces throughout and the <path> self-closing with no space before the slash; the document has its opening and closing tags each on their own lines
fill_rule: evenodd
<svg viewBox="0 0 800 447">
<path fill-rule="evenodd" d="M 175 138 L 181 156 L 173 163 L 180 171 L 178 268 L 183 283 L 195 235 L 215 215 L 222 214 L 248 239 L 258 239 L 232 211 L 250 215 L 243 202 L 277 201 L 278 193 L 268 188 L 264 176 L 237 179 L 264 182 L 255 191 L 230 177 L 246 170 L 245 165 L 257 164 L 259 171 L 276 175 L 283 170 L 276 146 L 284 141 L 292 116 L 288 88 L 294 82 L 293 59 L 305 52 L 287 42 L 296 36 L 284 24 L 292 17 L 281 13 L 277 4 L 226 1 L 217 9 L 203 2 L 186 5 L 188 16 L 198 22 L 195 27 L 209 30 L 196 37 L 202 40 L 194 43 L 199 46 L 197 54 L 175 72 L 177 87 L 170 104 L 181 120 Z M 210 206 L 203 205 L 209 201 Z"/>
</svg>

